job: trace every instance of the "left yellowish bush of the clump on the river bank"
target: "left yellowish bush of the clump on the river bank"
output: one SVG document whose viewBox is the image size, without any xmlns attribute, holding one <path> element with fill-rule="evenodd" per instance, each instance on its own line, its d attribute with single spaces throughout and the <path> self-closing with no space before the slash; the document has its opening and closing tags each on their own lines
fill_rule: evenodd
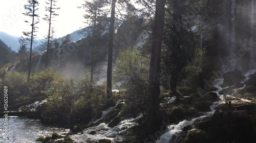
<svg viewBox="0 0 256 143">
<path fill-rule="evenodd" d="M 73 79 L 56 78 L 48 91 L 47 102 L 41 112 L 41 118 L 45 122 L 61 122 L 61 124 L 73 123 L 76 112 L 75 102 L 79 96 L 77 84 Z"/>
</svg>

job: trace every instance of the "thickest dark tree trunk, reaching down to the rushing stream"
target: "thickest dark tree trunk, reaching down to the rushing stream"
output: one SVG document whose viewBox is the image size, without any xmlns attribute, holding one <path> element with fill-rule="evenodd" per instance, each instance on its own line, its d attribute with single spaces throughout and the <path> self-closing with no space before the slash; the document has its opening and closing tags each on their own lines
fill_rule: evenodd
<svg viewBox="0 0 256 143">
<path fill-rule="evenodd" d="M 164 6 L 165 0 L 156 0 L 147 105 L 147 131 L 149 134 L 154 133 L 154 131 L 158 129 L 159 123 L 160 62 L 164 26 Z"/>
</svg>

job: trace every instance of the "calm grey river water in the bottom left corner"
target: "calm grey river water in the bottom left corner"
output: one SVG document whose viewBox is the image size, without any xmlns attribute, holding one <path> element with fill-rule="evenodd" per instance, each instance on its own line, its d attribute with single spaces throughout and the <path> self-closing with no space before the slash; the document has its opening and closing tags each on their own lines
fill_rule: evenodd
<svg viewBox="0 0 256 143">
<path fill-rule="evenodd" d="M 40 142 L 35 141 L 38 136 L 50 135 L 53 132 L 68 132 L 68 129 L 56 128 L 42 124 L 40 120 L 22 117 L 8 117 L 8 140 L 3 141 L 4 118 L 0 118 L 0 142 Z"/>
</svg>

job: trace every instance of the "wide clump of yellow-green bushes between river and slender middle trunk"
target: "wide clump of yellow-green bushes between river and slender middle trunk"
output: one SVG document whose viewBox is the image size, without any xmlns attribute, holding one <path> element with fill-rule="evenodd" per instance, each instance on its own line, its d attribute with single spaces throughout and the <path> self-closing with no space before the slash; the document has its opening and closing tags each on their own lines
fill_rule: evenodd
<svg viewBox="0 0 256 143">
<path fill-rule="evenodd" d="M 41 113 L 45 122 L 58 122 L 73 126 L 82 120 L 88 123 L 100 109 L 100 102 L 105 96 L 104 85 L 91 85 L 90 74 L 86 72 L 79 81 L 53 78 L 51 87 L 44 92 L 47 103 Z"/>
</svg>

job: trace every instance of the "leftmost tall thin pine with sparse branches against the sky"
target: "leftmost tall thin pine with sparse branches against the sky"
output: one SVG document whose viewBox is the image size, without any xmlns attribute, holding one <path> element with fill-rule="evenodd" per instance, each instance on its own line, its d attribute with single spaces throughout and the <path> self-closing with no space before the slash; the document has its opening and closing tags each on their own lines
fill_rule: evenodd
<svg viewBox="0 0 256 143">
<path fill-rule="evenodd" d="M 30 39 L 30 54 L 29 54 L 29 71 L 28 71 L 28 82 L 30 79 L 30 70 L 31 70 L 31 58 L 32 58 L 32 47 L 33 47 L 33 40 L 36 36 L 36 29 L 38 28 L 36 24 L 39 23 L 38 17 L 39 15 L 36 14 L 36 11 L 38 11 L 39 3 L 38 0 L 28 0 L 28 4 L 24 6 L 24 9 L 26 10 L 25 13 L 23 13 L 25 16 L 28 16 L 32 18 L 32 23 L 30 24 L 32 27 L 31 32 L 23 32 L 25 39 L 28 37 L 31 37 Z M 29 21 L 25 21 L 26 23 L 29 23 Z"/>
</svg>

